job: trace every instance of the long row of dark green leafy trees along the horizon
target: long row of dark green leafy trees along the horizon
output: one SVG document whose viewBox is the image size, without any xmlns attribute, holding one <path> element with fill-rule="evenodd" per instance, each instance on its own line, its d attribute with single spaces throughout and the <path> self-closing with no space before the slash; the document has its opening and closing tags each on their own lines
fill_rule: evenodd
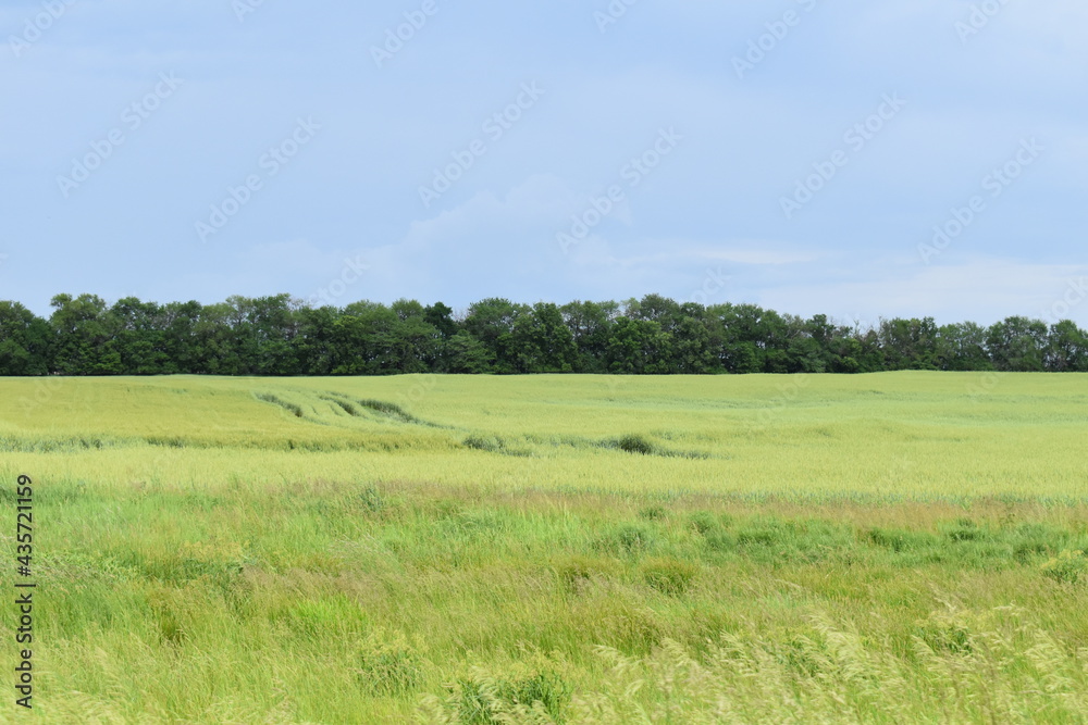
<svg viewBox="0 0 1088 725">
<path fill-rule="evenodd" d="M 1088 372 L 1088 334 L 1070 321 L 990 327 L 805 320 L 754 304 L 642 300 L 527 305 L 355 302 L 287 295 L 158 304 L 59 295 L 48 320 L 0 302 L 0 375 L 386 375 L 396 373 Z"/>
</svg>

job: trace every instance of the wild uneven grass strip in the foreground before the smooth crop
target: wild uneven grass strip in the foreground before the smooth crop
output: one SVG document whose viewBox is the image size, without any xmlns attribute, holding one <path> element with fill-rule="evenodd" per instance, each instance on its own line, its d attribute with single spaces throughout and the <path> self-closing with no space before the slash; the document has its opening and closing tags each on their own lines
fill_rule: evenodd
<svg viewBox="0 0 1088 725">
<path fill-rule="evenodd" d="M 1088 713 L 1083 507 L 58 482 L 37 512 L 48 722 Z"/>
</svg>

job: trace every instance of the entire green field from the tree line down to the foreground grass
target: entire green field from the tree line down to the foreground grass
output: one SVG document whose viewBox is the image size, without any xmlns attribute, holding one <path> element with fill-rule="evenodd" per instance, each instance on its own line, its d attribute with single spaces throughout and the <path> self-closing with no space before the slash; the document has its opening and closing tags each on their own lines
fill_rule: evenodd
<svg viewBox="0 0 1088 725">
<path fill-rule="evenodd" d="M 38 583 L 0 722 L 1088 721 L 1088 375 L 0 400 Z"/>
</svg>

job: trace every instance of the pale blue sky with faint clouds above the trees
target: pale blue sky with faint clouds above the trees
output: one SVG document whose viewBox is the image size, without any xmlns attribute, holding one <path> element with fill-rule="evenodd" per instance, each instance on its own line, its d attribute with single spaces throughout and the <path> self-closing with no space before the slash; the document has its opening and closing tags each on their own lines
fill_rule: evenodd
<svg viewBox="0 0 1088 725">
<path fill-rule="evenodd" d="M 0 299 L 1088 326 L 1080 0 L 0 0 Z"/>
</svg>

